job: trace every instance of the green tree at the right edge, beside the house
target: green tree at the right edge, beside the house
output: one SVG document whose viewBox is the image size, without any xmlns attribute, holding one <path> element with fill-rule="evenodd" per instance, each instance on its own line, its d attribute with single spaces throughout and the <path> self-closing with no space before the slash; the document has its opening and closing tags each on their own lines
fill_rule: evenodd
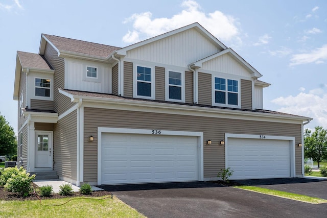
<svg viewBox="0 0 327 218">
<path fill-rule="evenodd" d="M 305 157 L 312 158 L 318 163 L 327 159 L 327 130 L 315 127 L 315 131 L 305 131 Z"/>
</svg>

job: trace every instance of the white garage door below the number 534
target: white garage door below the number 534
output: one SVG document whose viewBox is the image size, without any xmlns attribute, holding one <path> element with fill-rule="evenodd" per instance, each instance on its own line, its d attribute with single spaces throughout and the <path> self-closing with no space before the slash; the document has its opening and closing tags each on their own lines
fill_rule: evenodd
<svg viewBox="0 0 327 218">
<path fill-rule="evenodd" d="M 228 138 L 230 179 L 283 178 L 291 176 L 290 141 Z"/>
</svg>

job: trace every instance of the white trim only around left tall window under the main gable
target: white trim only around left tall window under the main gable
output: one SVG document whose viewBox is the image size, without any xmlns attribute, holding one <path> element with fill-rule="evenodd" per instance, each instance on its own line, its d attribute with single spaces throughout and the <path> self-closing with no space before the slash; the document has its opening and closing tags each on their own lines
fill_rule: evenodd
<svg viewBox="0 0 327 218">
<path fill-rule="evenodd" d="M 143 96 L 143 95 L 137 95 L 137 67 L 147 67 L 151 69 L 151 82 L 149 81 L 141 81 L 140 82 L 146 82 L 151 83 L 151 96 Z M 139 99 L 150 99 L 155 100 L 155 69 L 152 66 L 148 66 L 145 64 L 133 64 L 133 98 L 139 98 Z"/>
</svg>

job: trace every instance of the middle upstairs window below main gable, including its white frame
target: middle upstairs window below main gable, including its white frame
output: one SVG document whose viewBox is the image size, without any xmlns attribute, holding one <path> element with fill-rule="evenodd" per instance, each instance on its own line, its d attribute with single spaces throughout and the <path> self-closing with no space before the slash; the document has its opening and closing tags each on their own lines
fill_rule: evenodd
<svg viewBox="0 0 327 218">
<path fill-rule="evenodd" d="M 166 101 L 185 102 L 184 72 L 166 70 Z"/>
</svg>

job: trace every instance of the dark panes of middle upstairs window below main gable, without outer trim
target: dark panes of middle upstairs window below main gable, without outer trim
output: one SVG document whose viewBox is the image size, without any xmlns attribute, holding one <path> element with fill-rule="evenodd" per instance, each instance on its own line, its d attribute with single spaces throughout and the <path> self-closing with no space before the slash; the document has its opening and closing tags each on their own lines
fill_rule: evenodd
<svg viewBox="0 0 327 218">
<path fill-rule="evenodd" d="M 169 99 L 182 100 L 182 74 L 181 72 L 169 71 Z"/>
</svg>

